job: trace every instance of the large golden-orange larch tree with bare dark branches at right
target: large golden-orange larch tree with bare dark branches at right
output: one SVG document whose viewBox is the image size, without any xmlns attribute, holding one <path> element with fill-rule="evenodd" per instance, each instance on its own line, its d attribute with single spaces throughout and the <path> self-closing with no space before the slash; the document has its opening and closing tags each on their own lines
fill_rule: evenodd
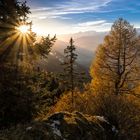
<svg viewBox="0 0 140 140">
<path fill-rule="evenodd" d="M 98 47 L 91 66 L 92 86 L 96 93 L 133 93 L 139 85 L 139 38 L 126 20 L 117 20 Z"/>
</svg>

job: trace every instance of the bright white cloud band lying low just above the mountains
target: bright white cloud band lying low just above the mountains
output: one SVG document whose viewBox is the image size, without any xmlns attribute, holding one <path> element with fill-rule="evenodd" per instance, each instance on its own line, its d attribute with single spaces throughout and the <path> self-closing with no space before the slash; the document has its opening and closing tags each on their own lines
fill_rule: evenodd
<svg viewBox="0 0 140 140">
<path fill-rule="evenodd" d="M 40 25 L 41 23 L 39 23 Z M 40 32 L 40 34 L 69 34 L 69 33 L 77 33 L 77 32 L 85 32 L 85 31 L 96 31 L 96 32 L 104 32 L 109 31 L 112 26 L 111 22 L 106 20 L 97 20 L 97 21 L 87 21 L 76 24 L 47 24 L 45 26 L 36 26 L 34 29 L 36 32 Z"/>
</svg>

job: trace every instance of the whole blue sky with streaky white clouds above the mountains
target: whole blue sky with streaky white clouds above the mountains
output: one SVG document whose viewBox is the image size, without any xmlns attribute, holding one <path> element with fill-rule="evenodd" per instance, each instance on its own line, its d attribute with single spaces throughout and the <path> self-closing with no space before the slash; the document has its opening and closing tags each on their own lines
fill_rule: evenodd
<svg viewBox="0 0 140 140">
<path fill-rule="evenodd" d="M 28 0 L 39 34 L 108 31 L 119 17 L 140 27 L 140 0 Z"/>
</svg>

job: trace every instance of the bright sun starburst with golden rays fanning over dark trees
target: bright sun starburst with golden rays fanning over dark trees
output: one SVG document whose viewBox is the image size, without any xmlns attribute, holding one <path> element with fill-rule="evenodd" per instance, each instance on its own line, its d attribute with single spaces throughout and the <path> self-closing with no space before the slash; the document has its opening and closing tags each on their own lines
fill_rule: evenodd
<svg viewBox="0 0 140 140">
<path fill-rule="evenodd" d="M 0 62 L 19 66 L 30 63 L 33 49 L 31 47 L 31 23 L 4 24 L 0 31 Z M 5 34 L 5 30 L 8 31 Z M 32 52 L 32 53 L 31 53 Z M 9 61 L 9 62 L 8 62 Z"/>
</svg>

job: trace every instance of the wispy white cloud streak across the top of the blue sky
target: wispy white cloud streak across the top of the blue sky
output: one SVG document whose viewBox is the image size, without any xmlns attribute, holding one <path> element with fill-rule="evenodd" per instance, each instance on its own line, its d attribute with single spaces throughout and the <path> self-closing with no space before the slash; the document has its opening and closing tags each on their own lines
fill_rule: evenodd
<svg viewBox="0 0 140 140">
<path fill-rule="evenodd" d="M 63 16 L 68 14 L 81 14 L 86 12 L 96 12 L 100 8 L 107 6 L 112 0 L 69 0 L 54 3 L 50 7 L 39 7 L 32 9 L 36 17 L 51 18 L 52 16 Z"/>
</svg>

